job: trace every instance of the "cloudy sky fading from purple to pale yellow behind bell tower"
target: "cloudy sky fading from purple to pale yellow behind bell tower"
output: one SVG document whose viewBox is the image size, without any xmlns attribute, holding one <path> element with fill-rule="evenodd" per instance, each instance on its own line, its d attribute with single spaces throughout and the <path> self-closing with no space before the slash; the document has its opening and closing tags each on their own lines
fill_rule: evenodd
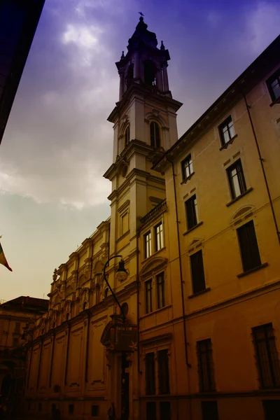
<svg viewBox="0 0 280 420">
<path fill-rule="evenodd" d="M 169 49 L 179 135 L 279 35 L 278 0 L 45 0 L 0 147 L 0 299 L 43 297 L 109 217 L 115 62 L 144 13 Z"/>
</svg>

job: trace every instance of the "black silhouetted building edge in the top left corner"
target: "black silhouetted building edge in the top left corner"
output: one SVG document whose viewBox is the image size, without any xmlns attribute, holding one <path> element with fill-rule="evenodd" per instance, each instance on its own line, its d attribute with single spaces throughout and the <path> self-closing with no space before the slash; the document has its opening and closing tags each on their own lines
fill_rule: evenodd
<svg viewBox="0 0 280 420">
<path fill-rule="evenodd" d="M 45 0 L 0 3 L 0 144 Z"/>
</svg>

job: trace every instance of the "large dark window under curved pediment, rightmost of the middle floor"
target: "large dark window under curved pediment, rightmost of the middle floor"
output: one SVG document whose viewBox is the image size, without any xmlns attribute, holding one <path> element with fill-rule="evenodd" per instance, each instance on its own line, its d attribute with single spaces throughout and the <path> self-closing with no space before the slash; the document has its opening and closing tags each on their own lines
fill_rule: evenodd
<svg viewBox="0 0 280 420">
<path fill-rule="evenodd" d="M 244 272 L 261 265 L 253 221 L 237 229 Z"/>
</svg>

